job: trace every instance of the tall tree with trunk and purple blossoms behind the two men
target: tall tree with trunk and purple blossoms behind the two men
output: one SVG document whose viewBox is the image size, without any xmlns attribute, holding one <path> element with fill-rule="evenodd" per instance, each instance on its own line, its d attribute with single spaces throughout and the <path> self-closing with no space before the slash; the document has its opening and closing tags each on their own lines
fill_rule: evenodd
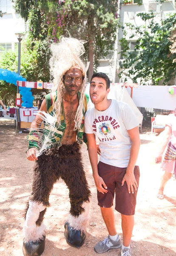
<svg viewBox="0 0 176 256">
<path fill-rule="evenodd" d="M 26 21 L 32 21 L 29 29 L 35 38 L 42 36 L 45 28 L 48 41 L 57 42 L 61 35 L 68 33 L 67 29 L 72 37 L 88 41 L 85 58 L 90 61 L 89 81 L 99 58 L 114 46 L 117 6 L 116 0 L 16 0 L 15 3 L 16 11 Z M 38 12 L 35 19 L 31 15 L 34 12 Z"/>
</svg>

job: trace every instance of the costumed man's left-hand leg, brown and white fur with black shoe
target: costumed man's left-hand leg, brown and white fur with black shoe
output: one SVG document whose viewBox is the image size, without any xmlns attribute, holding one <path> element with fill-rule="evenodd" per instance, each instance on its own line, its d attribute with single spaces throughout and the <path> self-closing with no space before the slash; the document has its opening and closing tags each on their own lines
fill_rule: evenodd
<svg viewBox="0 0 176 256">
<path fill-rule="evenodd" d="M 34 166 L 32 193 L 24 214 L 23 254 L 40 255 L 45 247 L 45 225 L 42 223 L 46 207 L 49 206 L 49 195 L 56 182 L 56 175 L 51 167 L 49 156 L 42 155 Z M 43 243 L 41 244 L 41 241 Z"/>
</svg>

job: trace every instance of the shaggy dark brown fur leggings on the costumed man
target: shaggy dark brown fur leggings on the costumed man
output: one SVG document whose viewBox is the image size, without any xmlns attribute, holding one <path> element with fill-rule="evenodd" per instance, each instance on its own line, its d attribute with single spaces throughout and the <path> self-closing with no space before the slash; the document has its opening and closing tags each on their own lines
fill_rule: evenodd
<svg viewBox="0 0 176 256">
<path fill-rule="evenodd" d="M 91 192 L 88 189 L 88 183 L 85 178 L 85 172 L 82 166 L 82 157 L 79 145 L 62 145 L 58 150 L 53 148 L 49 154 L 42 154 L 34 166 L 34 176 L 32 183 L 32 193 L 30 201 L 43 203 L 49 206 L 49 195 L 53 189 L 54 183 L 62 178 L 69 189 L 70 214 L 78 217 L 84 212 L 82 204 L 89 202 Z M 26 213 L 29 204 L 27 204 Z M 40 212 L 36 225 L 42 224 L 46 208 Z"/>
</svg>

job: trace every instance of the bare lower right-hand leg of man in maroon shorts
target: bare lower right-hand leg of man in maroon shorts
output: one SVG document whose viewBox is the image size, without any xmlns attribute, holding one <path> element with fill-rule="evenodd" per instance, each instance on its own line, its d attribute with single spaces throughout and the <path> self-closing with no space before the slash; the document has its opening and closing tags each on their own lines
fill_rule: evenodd
<svg viewBox="0 0 176 256">
<path fill-rule="evenodd" d="M 123 245 L 125 247 L 130 246 L 131 236 L 134 226 L 134 215 L 123 215 L 122 216 L 122 233 L 123 233 Z"/>
</svg>

